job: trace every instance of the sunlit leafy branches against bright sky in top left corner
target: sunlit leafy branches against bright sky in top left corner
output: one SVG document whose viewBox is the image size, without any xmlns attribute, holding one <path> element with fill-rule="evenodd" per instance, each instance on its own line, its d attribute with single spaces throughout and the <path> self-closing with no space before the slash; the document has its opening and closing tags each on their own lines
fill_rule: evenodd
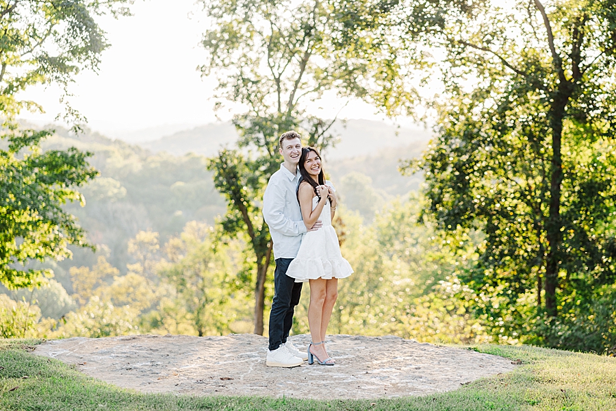
<svg viewBox="0 0 616 411">
<path fill-rule="evenodd" d="M 97 71 L 101 53 L 109 47 L 95 16 L 127 15 L 130 0 L 14 0 L 0 3 L 0 113 L 10 121 L 23 108 L 38 109 L 34 101 L 17 99 L 34 84 L 73 82 L 84 69 Z M 66 105 L 66 118 L 80 119 Z M 6 124 L 6 123 L 5 123 Z"/>
</svg>

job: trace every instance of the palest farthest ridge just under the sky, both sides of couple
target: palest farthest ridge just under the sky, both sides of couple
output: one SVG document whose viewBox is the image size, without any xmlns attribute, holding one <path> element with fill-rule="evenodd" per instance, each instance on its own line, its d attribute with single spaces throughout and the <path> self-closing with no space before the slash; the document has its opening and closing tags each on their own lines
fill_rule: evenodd
<svg viewBox="0 0 616 411">
<path fill-rule="evenodd" d="M 431 138 L 431 133 L 422 129 L 396 127 L 370 120 L 340 121 L 333 126 L 333 132 L 339 136 L 339 140 L 324 153 L 327 160 L 371 155 L 385 148 L 422 145 Z M 196 153 L 210 157 L 221 147 L 232 145 L 237 138 L 235 128 L 227 122 L 194 127 L 138 144 L 154 152 L 166 151 L 174 155 Z"/>
</svg>

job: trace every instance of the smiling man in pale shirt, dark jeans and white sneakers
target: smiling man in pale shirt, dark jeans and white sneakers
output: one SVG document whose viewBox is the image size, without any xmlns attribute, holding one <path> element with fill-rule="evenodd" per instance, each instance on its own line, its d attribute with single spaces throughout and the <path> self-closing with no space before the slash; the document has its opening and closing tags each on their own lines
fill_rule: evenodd
<svg viewBox="0 0 616 411">
<path fill-rule="evenodd" d="M 293 312 L 300 301 L 302 284 L 287 276 L 291 261 L 297 256 L 302 234 L 322 227 L 317 221 L 310 229 L 304 225 L 296 197 L 300 179 L 297 164 L 302 154 L 302 140 L 296 132 L 286 132 L 279 139 L 279 153 L 284 158 L 280 170 L 270 177 L 263 196 L 263 216 L 274 242 L 274 301 L 270 312 L 268 366 L 292 367 L 308 360 L 308 353 L 298 351 L 287 340 L 293 324 Z"/>
</svg>

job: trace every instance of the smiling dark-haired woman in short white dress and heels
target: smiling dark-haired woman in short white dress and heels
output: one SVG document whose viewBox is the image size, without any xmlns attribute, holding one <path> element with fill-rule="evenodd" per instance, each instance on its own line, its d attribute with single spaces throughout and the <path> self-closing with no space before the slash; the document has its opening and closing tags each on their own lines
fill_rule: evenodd
<svg viewBox="0 0 616 411">
<path fill-rule="evenodd" d="M 338 279 L 348 277 L 353 270 L 342 258 L 338 236 L 331 225 L 337 198 L 333 186 L 325 181 L 318 151 L 313 147 L 302 149 L 298 166 L 302 179 L 297 198 L 304 224 L 312 227 L 320 220 L 323 227 L 303 236 L 287 275 L 296 282 L 310 283 L 308 325 L 312 343 L 308 345 L 308 364 L 313 364 L 316 357 L 319 364 L 333 365 L 335 360 L 325 350 L 325 334 L 338 296 Z"/>
</svg>

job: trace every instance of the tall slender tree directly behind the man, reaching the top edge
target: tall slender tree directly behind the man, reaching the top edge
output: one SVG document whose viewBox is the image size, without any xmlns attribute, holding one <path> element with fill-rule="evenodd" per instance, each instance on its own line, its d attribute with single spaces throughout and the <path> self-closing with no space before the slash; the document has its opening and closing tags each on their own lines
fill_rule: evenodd
<svg viewBox="0 0 616 411">
<path fill-rule="evenodd" d="M 272 242 L 261 216 L 261 199 L 268 178 L 281 163 L 278 138 L 297 129 L 308 145 L 331 145 L 335 115 L 320 119 L 307 110 L 309 101 L 328 90 L 383 100 L 389 98 L 387 91 L 402 90 L 392 84 L 400 79 L 394 51 L 367 34 L 391 5 L 318 0 L 201 3 L 211 22 L 203 36 L 208 58 L 201 71 L 218 79 L 216 108 L 231 101 L 244 110 L 233 117 L 240 134 L 238 148 L 220 151 L 208 167 L 215 173 L 216 188 L 227 197 L 224 233 L 246 236 L 251 249 L 248 266 L 254 266 L 253 275 L 245 277 L 255 284 L 254 332 L 263 334 Z M 360 6 L 370 24 L 359 18 Z M 352 45 L 342 41 L 361 29 L 366 36 L 355 36 Z"/>
</svg>

